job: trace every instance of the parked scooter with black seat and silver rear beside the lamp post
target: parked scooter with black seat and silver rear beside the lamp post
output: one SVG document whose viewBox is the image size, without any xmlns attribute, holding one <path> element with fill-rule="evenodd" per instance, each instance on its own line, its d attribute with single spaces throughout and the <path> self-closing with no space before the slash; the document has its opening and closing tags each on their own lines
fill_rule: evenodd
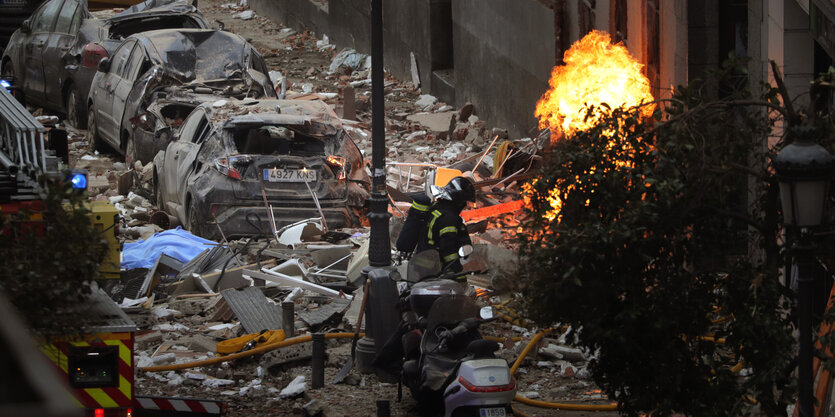
<svg viewBox="0 0 835 417">
<path fill-rule="evenodd" d="M 471 250 L 464 247 L 459 255 L 464 259 Z M 437 251 L 415 255 L 407 271 L 400 373 L 421 411 L 442 411 L 445 417 L 512 415 L 516 382 L 507 361 L 494 356 L 498 343 L 478 331 L 494 319 L 492 307 L 479 310 L 467 284 L 451 279 L 460 273 L 440 271 Z"/>
</svg>

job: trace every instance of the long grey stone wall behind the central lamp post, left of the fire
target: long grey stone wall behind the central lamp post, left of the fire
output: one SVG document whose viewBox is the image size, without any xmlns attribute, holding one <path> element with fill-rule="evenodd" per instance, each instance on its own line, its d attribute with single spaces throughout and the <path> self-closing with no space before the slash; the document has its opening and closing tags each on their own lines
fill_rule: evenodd
<svg viewBox="0 0 835 417">
<path fill-rule="evenodd" d="M 368 0 L 249 0 L 259 14 L 296 30 L 327 34 L 339 48 L 371 52 Z M 388 0 L 383 7 L 384 61 L 412 80 L 414 54 L 424 93 L 476 113 L 511 136 L 536 128 L 536 101 L 557 62 L 561 1 Z M 565 42 L 563 40 L 563 42 Z M 559 57 L 561 57 L 559 51 Z"/>
</svg>

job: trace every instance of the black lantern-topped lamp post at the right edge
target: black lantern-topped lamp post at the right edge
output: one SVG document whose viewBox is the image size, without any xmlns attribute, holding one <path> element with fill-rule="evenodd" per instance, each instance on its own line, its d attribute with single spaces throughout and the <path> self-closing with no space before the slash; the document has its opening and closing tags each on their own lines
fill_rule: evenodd
<svg viewBox="0 0 835 417">
<path fill-rule="evenodd" d="M 798 328 L 798 404 L 802 417 L 812 417 L 812 250 L 811 229 L 824 221 L 829 195 L 833 158 L 822 146 L 814 143 L 816 130 L 810 126 L 789 129 L 792 143 L 774 159 L 780 182 L 783 222 L 787 230 L 797 233 L 792 245 L 797 262 Z"/>
</svg>

